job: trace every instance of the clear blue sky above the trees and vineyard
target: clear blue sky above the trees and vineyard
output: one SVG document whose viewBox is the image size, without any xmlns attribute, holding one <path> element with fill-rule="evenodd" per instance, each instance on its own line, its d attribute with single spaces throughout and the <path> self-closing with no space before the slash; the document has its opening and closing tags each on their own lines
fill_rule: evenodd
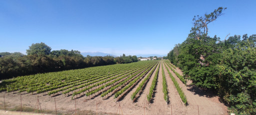
<svg viewBox="0 0 256 115">
<path fill-rule="evenodd" d="M 0 52 L 25 54 L 44 42 L 52 50 L 167 54 L 194 15 L 219 6 L 227 9 L 208 24 L 210 36 L 256 34 L 256 0 L 0 0 Z"/>
</svg>

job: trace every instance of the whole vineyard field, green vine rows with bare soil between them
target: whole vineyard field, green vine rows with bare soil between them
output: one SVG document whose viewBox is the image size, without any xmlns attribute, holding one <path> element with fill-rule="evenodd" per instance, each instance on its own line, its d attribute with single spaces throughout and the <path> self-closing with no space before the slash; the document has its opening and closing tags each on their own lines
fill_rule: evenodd
<svg viewBox="0 0 256 115">
<path fill-rule="evenodd" d="M 23 96 L 27 100 L 40 96 L 44 100 L 61 100 L 65 102 L 64 105 L 72 105 L 70 103 L 74 100 L 78 100 L 76 102 L 80 105 L 88 102 L 86 103 L 88 109 L 93 109 L 93 100 L 101 103 L 101 106 L 104 105 L 105 108 L 113 102 L 115 104 L 120 102 L 124 107 L 133 108 L 135 108 L 133 104 L 147 104 L 148 106 L 167 104 L 166 107 L 160 108 L 166 112 L 173 104 L 176 106 L 178 104 L 179 107 L 176 108 L 188 109 L 189 101 L 182 89 L 186 81 L 175 70 L 176 67 L 167 60 L 139 61 L 20 76 L 3 80 L 0 83 L 0 91 L 1 96 L 20 95 L 20 98 Z M 48 104 L 47 101 L 44 103 Z M 149 107 L 148 111 L 154 110 L 150 108 L 152 107 Z M 105 111 L 104 108 L 101 110 Z M 113 111 L 110 109 L 109 112 Z"/>
</svg>

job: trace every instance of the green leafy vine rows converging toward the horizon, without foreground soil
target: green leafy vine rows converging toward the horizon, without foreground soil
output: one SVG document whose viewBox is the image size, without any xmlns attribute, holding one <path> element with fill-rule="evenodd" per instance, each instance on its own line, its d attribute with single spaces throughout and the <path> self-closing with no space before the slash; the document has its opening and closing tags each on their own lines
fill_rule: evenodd
<svg viewBox="0 0 256 115">
<path fill-rule="evenodd" d="M 102 99 L 107 99 L 110 96 L 113 96 L 115 100 L 119 100 L 125 96 L 126 92 L 133 89 L 142 80 L 130 97 L 134 102 L 142 92 L 142 89 L 147 85 L 149 79 L 153 77 L 149 93 L 146 95 L 147 101 L 150 102 L 156 87 L 159 68 L 161 68 L 163 80 L 162 92 L 164 94 L 163 99 L 168 104 L 168 83 L 165 78 L 163 65 L 167 69 L 181 100 L 186 104 L 184 93 L 181 88 L 179 88 L 167 66 L 176 75 L 177 73 L 171 68 L 174 66 L 168 61 L 139 61 L 130 64 L 115 64 L 20 76 L 9 80 L 3 80 L 2 83 L 0 83 L 0 91 L 18 92 L 21 94 L 42 93 L 43 95 L 49 95 L 51 97 L 64 95 L 71 96 L 71 99 L 81 96 L 93 97 L 100 95 Z M 155 74 L 153 74 L 153 72 L 155 72 Z M 183 82 L 184 79 L 181 79 L 180 75 L 177 76 Z"/>
</svg>

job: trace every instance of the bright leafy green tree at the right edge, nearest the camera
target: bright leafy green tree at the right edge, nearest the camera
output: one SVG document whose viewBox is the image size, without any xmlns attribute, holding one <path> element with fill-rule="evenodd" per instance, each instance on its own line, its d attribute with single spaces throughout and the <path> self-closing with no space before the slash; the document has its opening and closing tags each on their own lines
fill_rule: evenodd
<svg viewBox="0 0 256 115">
<path fill-rule="evenodd" d="M 219 69 L 219 96 L 238 113 L 256 114 L 256 49 L 244 41 L 222 53 Z M 245 100 L 246 99 L 246 100 Z"/>
</svg>

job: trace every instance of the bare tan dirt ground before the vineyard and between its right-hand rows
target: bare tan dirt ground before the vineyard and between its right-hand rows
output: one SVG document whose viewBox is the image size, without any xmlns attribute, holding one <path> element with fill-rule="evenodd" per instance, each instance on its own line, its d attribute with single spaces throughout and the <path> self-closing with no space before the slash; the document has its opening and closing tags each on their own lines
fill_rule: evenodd
<svg viewBox="0 0 256 115">
<path fill-rule="evenodd" d="M 161 61 L 161 63 L 163 63 Z M 164 63 L 163 63 L 164 64 Z M 160 63 L 157 67 L 160 66 Z M 56 97 L 50 97 L 48 95 L 43 94 L 35 94 L 31 93 L 25 94 L 21 93 L 21 103 L 24 107 L 36 107 L 37 96 L 40 102 L 40 106 L 43 110 L 51 110 L 55 111 L 55 101 L 56 101 L 56 109 L 61 113 L 70 113 L 79 111 L 94 111 L 96 113 L 109 113 L 109 114 L 123 114 L 123 115 L 227 115 L 227 107 L 218 101 L 218 97 L 212 94 L 211 92 L 202 91 L 192 85 L 189 85 L 188 82 L 187 87 L 176 77 L 176 75 L 169 69 L 169 67 L 164 68 L 164 74 L 167 81 L 167 90 L 168 90 L 168 100 L 169 103 L 163 99 L 162 93 L 162 74 L 161 67 L 159 69 L 158 79 L 155 91 L 153 93 L 153 101 L 151 103 L 147 102 L 146 95 L 149 92 L 149 88 L 151 86 L 151 82 L 153 80 L 155 71 L 152 76 L 149 78 L 146 86 L 143 88 L 142 92 L 138 96 L 138 98 L 133 103 L 130 99 L 132 93 L 136 90 L 138 85 L 143 81 L 141 79 L 138 84 L 134 86 L 130 91 L 128 91 L 123 98 L 116 102 L 113 98 L 113 95 L 108 99 L 102 100 L 100 95 L 96 94 L 94 97 L 86 97 L 83 96 L 81 98 L 71 100 L 71 96 L 65 97 L 64 95 L 59 95 Z M 185 106 L 171 81 L 167 70 L 171 72 L 172 76 L 177 80 L 179 86 L 182 88 L 186 98 L 188 105 Z M 180 75 L 182 72 L 176 68 L 174 69 Z M 3 99 L 3 97 L 5 97 Z M 55 101 L 54 101 L 55 99 Z M 8 105 L 6 108 L 14 108 L 16 106 L 20 106 L 20 94 L 16 92 L 11 93 L 0 93 L 0 105 L 3 105 L 3 102 Z"/>
</svg>

